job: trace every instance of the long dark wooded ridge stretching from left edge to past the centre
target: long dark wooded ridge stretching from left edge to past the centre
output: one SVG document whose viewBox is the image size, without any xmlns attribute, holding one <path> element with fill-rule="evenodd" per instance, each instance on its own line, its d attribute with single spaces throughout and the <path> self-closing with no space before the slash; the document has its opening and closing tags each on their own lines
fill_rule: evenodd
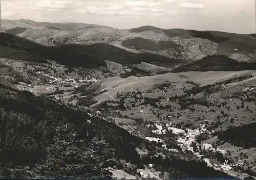
<svg viewBox="0 0 256 180">
<path fill-rule="evenodd" d="M 186 64 L 189 60 L 172 59 L 154 54 L 136 54 L 116 46 L 97 43 L 92 45 L 64 44 L 47 47 L 26 38 L 1 33 L 1 57 L 45 62 L 46 59 L 56 61 L 71 67 L 99 67 L 106 66 L 104 60 L 120 64 L 139 64 L 157 62 L 167 66 Z"/>
</svg>

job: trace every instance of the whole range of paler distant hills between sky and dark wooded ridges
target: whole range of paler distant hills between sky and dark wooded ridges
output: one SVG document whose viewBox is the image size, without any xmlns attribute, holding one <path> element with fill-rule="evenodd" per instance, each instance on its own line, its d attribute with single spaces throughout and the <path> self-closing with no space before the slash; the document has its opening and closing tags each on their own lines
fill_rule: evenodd
<svg viewBox="0 0 256 180">
<path fill-rule="evenodd" d="M 2 19 L 1 31 L 26 37 L 46 46 L 54 45 L 52 39 L 56 43 L 63 43 L 61 39 L 66 38 L 69 42 L 65 43 L 107 43 L 131 52 L 136 49 L 140 53 L 177 59 L 199 60 L 208 55 L 220 54 L 239 61 L 255 61 L 256 44 L 253 34 L 161 29 L 150 25 L 118 30 L 104 25 L 35 22 L 28 19 Z M 72 39 L 74 33 L 76 38 Z"/>
</svg>

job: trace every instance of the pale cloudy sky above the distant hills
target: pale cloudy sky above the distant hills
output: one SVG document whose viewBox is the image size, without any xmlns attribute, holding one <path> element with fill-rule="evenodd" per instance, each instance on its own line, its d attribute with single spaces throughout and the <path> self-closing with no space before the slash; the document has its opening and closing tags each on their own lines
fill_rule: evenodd
<svg viewBox="0 0 256 180">
<path fill-rule="evenodd" d="M 1 19 L 255 33 L 256 0 L 1 1 Z"/>
</svg>

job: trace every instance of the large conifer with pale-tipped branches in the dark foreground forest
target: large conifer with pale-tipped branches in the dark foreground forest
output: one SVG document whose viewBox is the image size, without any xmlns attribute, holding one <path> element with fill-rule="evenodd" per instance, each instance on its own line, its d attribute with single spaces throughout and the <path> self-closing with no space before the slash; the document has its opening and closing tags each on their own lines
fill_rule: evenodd
<svg viewBox="0 0 256 180">
<path fill-rule="evenodd" d="M 103 175 L 100 167 L 93 164 L 96 157 L 92 149 L 77 137 L 77 133 L 71 131 L 70 124 L 56 128 L 54 144 L 47 148 L 46 161 L 38 168 L 42 175 L 61 178 Z"/>
</svg>

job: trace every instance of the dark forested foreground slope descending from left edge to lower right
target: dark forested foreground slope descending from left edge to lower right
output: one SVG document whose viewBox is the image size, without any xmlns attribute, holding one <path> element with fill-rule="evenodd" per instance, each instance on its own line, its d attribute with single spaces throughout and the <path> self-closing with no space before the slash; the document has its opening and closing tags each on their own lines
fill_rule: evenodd
<svg viewBox="0 0 256 180">
<path fill-rule="evenodd" d="M 229 177 L 190 155 L 159 151 L 165 155 L 152 156 L 161 144 L 86 112 L 28 91 L 0 88 L 2 178 L 110 178 L 105 168 L 136 175 L 148 163 L 156 164 L 165 178 L 166 173 L 167 178 Z M 141 159 L 136 147 L 150 153 Z"/>
</svg>

